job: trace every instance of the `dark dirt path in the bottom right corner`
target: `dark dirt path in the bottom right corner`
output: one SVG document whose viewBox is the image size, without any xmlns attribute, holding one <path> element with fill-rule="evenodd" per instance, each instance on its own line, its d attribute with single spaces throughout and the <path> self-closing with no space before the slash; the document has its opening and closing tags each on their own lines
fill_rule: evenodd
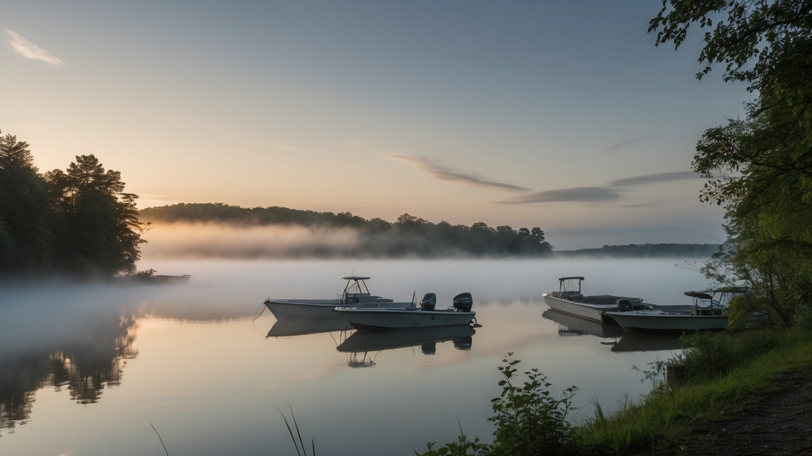
<svg viewBox="0 0 812 456">
<path fill-rule="evenodd" d="M 783 386 L 730 419 L 695 428 L 701 448 L 688 453 L 812 456 L 812 372 Z"/>
</svg>

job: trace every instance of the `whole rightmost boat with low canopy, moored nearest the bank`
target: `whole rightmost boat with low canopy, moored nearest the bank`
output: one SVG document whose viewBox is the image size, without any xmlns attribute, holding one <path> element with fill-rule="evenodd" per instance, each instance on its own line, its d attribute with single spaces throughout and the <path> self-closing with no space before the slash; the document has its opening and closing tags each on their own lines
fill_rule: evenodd
<svg viewBox="0 0 812 456">
<path fill-rule="evenodd" d="M 725 329 L 728 316 L 722 315 L 724 305 L 713 296 L 698 291 L 685 291 L 693 299 L 689 311 L 659 308 L 631 312 L 607 312 L 625 331 L 664 332 Z"/>
</svg>

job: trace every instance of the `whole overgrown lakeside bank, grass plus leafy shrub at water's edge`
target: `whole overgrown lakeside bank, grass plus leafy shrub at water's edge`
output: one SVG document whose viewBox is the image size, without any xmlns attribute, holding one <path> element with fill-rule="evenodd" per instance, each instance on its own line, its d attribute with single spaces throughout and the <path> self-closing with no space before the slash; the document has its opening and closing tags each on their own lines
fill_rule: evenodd
<svg viewBox="0 0 812 456">
<path fill-rule="evenodd" d="M 520 379 L 516 361 L 500 370 L 503 394 L 494 399 L 495 441 L 483 445 L 460 436 L 458 441 L 418 456 L 477 454 L 685 454 L 702 445 L 691 428 L 741 410 L 748 402 L 780 389 L 793 372 L 812 369 L 812 332 L 762 329 L 741 333 L 697 333 L 684 336 L 683 355 L 669 359 L 679 380 L 659 383 L 645 397 L 629 398 L 620 410 L 607 413 L 600 404 L 594 416 L 572 425 L 568 410 L 575 389 L 553 398 L 538 371 Z M 665 364 L 655 367 L 659 376 Z M 564 432 L 562 434 L 562 432 Z"/>
</svg>

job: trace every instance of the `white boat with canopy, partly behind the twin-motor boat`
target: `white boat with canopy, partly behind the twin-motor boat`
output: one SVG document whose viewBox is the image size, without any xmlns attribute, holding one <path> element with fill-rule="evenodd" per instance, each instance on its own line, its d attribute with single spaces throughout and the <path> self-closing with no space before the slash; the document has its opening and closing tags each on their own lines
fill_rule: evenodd
<svg viewBox="0 0 812 456">
<path fill-rule="evenodd" d="M 412 303 L 395 303 L 393 299 L 369 294 L 369 277 L 341 277 L 346 280 L 343 293 L 335 299 L 266 299 L 265 305 L 279 320 L 291 317 L 331 318 L 333 309 L 344 308 L 408 308 Z"/>
</svg>

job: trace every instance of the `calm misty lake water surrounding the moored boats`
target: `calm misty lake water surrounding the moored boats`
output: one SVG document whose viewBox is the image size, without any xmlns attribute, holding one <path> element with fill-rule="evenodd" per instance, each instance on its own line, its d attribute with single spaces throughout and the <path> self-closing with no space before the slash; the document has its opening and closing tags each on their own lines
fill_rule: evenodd
<svg viewBox="0 0 812 456">
<path fill-rule="evenodd" d="M 542 293 L 584 275 L 590 295 L 689 303 L 706 280 L 681 260 L 149 261 L 192 274 L 188 286 L 0 286 L 0 454 L 296 454 L 274 407 L 317 453 L 413 454 L 458 430 L 491 440 L 490 398 L 508 352 L 540 368 L 557 393 L 580 388 L 616 407 L 650 384 L 674 338 L 620 337 L 618 328 L 551 317 Z M 473 293 L 482 328 L 399 335 L 332 323 L 286 325 L 266 297 L 331 299 L 340 277 L 369 275 L 374 295 L 438 307 Z M 252 321 L 253 320 L 253 321 Z M 324 331 L 324 332 L 322 332 Z M 270 333 L 270 337 L 268 334 Z M 298 335 L 292 335 L 298 334 Z M 603 337 L 601 337 L 603 336 Z M 341 349 L 339 351 L 339 348 Z"/>
</svg>

